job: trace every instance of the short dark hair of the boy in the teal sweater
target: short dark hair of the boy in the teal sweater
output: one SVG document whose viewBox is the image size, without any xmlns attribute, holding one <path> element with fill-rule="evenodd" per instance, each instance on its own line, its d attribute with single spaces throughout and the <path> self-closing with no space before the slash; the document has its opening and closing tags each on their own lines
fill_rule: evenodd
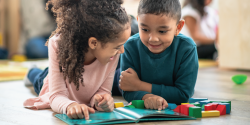
<svg viewBox="0 0 250 125">
<path fill-rule="evenodd" d="M 165 14 L 179 22 L 181 18 L 181 4 L 179 0 L 141 0 L 138 7 L 140 14 Z"/>
</svg>

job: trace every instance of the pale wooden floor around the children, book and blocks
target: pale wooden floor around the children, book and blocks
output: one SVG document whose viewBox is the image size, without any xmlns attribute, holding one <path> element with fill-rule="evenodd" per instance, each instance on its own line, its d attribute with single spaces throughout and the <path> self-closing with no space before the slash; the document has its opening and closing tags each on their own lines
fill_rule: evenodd
<svg viewBox="0 0 250 125">
<path fill-rule="evenodd" d="M 138 125 L 164 124 L 250 124 L 250 80 L 242 85 L 231 81 L 235 74 L 247 74 L 244 71 L 220 70 L 218 68 L 203 68 L 199 70 L 194 97 L 204 97 L 210 100 L 231 100 L 232 112 L 220 117 L 201 118 L 187 121 L 143 122 Z M 22 106 L 25 99 L 35 97 L 34 90 L 24 86 L 22 81 L 0 82 L 0 125 L 66 125 L 54 117 L 51 110 L 29 110 Z M 115 97 L 115 101 L 123 101 Z"/>
</svg>

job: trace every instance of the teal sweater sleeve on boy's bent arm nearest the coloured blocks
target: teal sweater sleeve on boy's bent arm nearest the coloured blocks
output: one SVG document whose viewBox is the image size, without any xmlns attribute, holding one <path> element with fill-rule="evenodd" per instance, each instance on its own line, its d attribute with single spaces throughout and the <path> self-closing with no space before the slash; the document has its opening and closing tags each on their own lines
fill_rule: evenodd
<svg viewBox="0 0 250 125">
<path fill-rule="evenodd" d="M 197 50 L 193 46 L 181 59 L 178 71 L 174 74 L 174 86 L 152 84 L 152 94 L 159 95 L 170 103 L 188 102 L 194 93 L 198 67 Z"/>
</svg>

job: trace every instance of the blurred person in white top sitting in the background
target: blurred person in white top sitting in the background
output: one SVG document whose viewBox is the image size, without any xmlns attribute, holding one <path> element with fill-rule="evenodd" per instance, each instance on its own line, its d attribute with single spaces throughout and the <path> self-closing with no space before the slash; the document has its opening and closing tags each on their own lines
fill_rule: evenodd
<svg viewBox="0 0 250 125">
<path fill-rule="evenodd" d="M 218 42 L 217 12 L 208 5 L 212 0 L 186 0 L 182 8 L 185 25 L 181 31 L 192 37 L 197 44 L 199 58 L 215 59 L 216 43 Z"/>
</svg>

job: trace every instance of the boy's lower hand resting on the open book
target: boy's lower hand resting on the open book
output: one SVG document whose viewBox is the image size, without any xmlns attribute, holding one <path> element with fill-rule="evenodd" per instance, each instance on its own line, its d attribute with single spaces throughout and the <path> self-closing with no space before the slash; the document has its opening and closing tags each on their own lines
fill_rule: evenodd
<svg viewBox="0 0 250 125">
<path fill-rule="evenodd" d="M 144 105 L 147 109 L 164 110 L 168 107 L 167 101 L 157 95 L 146 94 L 143 96 L 142 100 L 144 100 Z"/>
</svg>

